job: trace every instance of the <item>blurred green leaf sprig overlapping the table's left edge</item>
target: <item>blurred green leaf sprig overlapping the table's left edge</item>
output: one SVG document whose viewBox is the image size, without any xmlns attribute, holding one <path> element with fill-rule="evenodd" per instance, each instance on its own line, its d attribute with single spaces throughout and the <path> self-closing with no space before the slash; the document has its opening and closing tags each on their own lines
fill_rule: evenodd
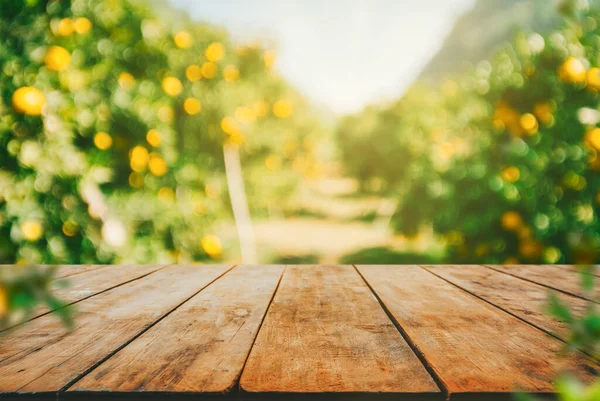
<svg viewBox="0 0 600 401">
<path fill-rule="evenodd" d="M 55 273 L 55 267 L 0 267 L 0 330 L 28 320 L 40 305 L 73 327 L 71 308 L 52 294 L 54 288 L 68 285 L 55 280 Z"/>
</svg>

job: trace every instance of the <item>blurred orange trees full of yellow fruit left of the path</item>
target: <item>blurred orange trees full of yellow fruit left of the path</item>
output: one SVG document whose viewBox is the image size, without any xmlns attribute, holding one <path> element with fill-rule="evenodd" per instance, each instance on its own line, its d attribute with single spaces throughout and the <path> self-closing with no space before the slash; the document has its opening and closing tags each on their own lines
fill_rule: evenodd
<svg viewBox="0 0 600 401">
<path fill-rule="evenodd" d="M 1 262 L 219 259 L 224 146 L 258 215 L 319 174 L 273 49 L 147 3 L 0 0 Z"/>
</svg>

